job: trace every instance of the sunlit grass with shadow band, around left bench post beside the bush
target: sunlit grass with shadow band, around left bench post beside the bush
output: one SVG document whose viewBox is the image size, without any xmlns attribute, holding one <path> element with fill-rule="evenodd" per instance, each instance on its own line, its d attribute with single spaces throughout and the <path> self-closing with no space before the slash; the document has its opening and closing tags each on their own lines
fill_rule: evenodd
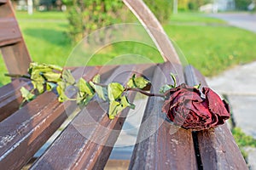
<svg viewBox="0 0 256 170">
<path fill-rule="evenodd" d="M 17 12 L 16 18 L 33 61 L 65 65 L 73 48 L 66 35 L 67 14 L 35 12 L 28 15 L 26 12 Z M 7 70 L 2 57 L 0 57 L 0 69 L 0 86 L 2 86 L 10 81 L 9 77 L 3 76 Z"/>
</svg>

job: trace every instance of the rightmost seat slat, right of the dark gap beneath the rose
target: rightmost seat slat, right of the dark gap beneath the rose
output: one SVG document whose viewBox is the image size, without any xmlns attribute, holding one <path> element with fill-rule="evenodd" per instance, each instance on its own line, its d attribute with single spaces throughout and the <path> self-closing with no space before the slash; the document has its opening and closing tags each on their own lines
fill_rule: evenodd
<svg viewBox="0 0 256 170">
<path fill-rule="evenodd" d="M 207 87 L 205 78 L 193 66 L 185 68 L 185 76 L 190 86 L 201 82 L 201 87 Z M 196 134 L 204 169 L 247 169 L 246 162 L 226 124 Z"/>
</svg>

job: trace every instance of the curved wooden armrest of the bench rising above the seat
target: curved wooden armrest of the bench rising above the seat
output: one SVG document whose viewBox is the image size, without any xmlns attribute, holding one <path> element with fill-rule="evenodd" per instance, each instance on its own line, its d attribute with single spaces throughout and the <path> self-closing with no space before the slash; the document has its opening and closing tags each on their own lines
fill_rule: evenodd
<svg viewBox="0 0 256 170">
<path fill-rule="evenodd" d="M 147 5 L 142 0 L 123 0 L 123 2 L 148 31 L 163 59 L 170 61 L 172 64 L 180 64 L 176 49 Z"/>
</svg>

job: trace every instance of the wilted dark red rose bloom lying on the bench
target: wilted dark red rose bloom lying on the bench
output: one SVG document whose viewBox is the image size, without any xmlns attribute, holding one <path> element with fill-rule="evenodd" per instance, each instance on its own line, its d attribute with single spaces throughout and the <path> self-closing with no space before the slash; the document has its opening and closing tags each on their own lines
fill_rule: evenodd
<svg viewBox="0 0 256 170">
<path fill-rule="evenodd" d="M 184 83 L 166 91 L 162 111 L 177 126 L 196 131 L 217 127 L 230 118 L 229 105 L 212 89 L 202 88 L 201 92 Z"/>
</svg>

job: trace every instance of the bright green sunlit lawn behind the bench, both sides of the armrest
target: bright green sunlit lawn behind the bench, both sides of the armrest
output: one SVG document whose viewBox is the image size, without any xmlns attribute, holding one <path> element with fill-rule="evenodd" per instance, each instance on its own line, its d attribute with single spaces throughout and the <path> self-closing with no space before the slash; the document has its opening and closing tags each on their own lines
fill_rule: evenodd
<svg viewBox="0 0 256 170">
<path fill-rule="evenodd" d="M 68 28 L 67 14 L 37 12 L 30 16 L 24 12 L 19 12 L 16 15 L 32 60 L 66 65 L 66 62 L 72 59 L 75 61 L 74 63 L 84 64 L 83 57 L 85 54 L 82 52 L 81 59 L 83 61 L 79 58 L 67 60 L 74 47 L 66 34 Z M 177 42 L 177 46 L 189 64 L 195 65 L 207 77 L 217 75 L 233 65 L 256 60 L 256 54 L 252 53 L 252 49 L 256 48 L 256 34 L 227 26 L 223 20 L 213 19 L 204 14 L 181 13 L 172 15 L 170 22 L 164 26 L 164 29 L 169 37 Z M 137 35 L 142 34 L 137 32 Z M 90 47 L 82 48 L 80 51 L 84 49 L 92 53 Z M 133 54 L 133 58 L 131 54 Z M 74 55 L 76 54 L 73 53 L 72 56 Z M 123 57 L 116 59 L 116 56 Z M 147 59 L 144 57 L 137 59 L 137 56 L 144 56 Z M 126 63 L 131 61 L 137 63 L 163 61 L 157 50 L 150 45 L 142 42 L 125 41 L 102 47 L 88 64 L 102 65 L 113 60 L 119 61 L 112 62 L 112 64 L 123 61 Z M 9 78 L 3 77 L 3 73 L 7 72 L 3 60 L 0 62 L 0 69 L 1 85 L 9 82 Z"/>
</svg>

